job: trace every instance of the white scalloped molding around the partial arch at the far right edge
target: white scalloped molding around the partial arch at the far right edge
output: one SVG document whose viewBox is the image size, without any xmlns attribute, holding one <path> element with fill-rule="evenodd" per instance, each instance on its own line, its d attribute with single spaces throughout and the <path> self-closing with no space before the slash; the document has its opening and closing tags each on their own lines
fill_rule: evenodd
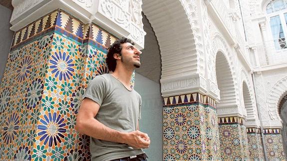
<svg viewBox="0 0 287 161">
<path fill-rule="evenodd" d="M 279 80 L 275 85 L 273 85 L 271 91 L 267 96 L 267 104 L 268 104 L 268 114 L 272 120 L 281 120 L 278 106 L 279 101 L 284 97 L 284 94 L 287 91 L 287 77 Z"/>
</svg>

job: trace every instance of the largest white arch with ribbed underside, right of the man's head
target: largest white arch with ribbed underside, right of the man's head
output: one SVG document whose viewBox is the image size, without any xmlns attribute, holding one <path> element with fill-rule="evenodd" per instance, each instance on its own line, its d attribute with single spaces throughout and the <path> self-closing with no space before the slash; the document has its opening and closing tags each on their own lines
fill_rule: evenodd
<svg viewBox="0 0 287 161">
<path fill-rule="evenodd" d="M 205 63 L 196 1 L 143 0 L 143 12 L 161 51 L 164 97 L 206 91 L 207 83 L 201 74 Z"/>
</svg>

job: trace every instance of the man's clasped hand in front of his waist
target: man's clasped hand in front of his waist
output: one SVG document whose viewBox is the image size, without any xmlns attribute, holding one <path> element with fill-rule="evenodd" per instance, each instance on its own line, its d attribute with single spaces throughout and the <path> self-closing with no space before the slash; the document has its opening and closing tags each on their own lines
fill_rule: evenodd
<svg viewBox="0 0 287 161">
<path fill-rule="evenodd" d="M 126 133 L 123 136 L 124 143 L 135 149 L 149 148 L 150 138 L 140 131 Z"/>
</svg>

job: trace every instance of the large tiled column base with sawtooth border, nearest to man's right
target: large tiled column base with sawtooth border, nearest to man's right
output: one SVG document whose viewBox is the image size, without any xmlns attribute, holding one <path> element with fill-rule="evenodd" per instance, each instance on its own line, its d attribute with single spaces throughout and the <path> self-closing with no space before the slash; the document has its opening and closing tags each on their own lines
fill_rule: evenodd
<svg viewBox="0 0 287 161">
<path fill-rule="evenodd" d="M 219 160 L 215 101 L 200 93 L 167 97 L 163 101 L 164 161 Z"/>
</svg>

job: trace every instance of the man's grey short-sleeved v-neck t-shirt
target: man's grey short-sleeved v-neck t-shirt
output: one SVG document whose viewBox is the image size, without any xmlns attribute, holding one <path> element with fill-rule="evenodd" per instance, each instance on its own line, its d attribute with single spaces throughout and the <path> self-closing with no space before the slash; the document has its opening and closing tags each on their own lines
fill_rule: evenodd
<svg viewBox="0 0 287 161">
<path fill-rule="evenodd" d="M 111 74 L 96 76 L 90 81 L 84 98 L 100 105 L 95 117 L 105 126 L 120 131 L 132 132 L 140 119 L 141 96 L 129 91 Z M 143 154 L 141 149 L 133 149 L 126 144 L 108 142 L 90 137 L 92 161 L 110 161 Z"/>
</svg>

